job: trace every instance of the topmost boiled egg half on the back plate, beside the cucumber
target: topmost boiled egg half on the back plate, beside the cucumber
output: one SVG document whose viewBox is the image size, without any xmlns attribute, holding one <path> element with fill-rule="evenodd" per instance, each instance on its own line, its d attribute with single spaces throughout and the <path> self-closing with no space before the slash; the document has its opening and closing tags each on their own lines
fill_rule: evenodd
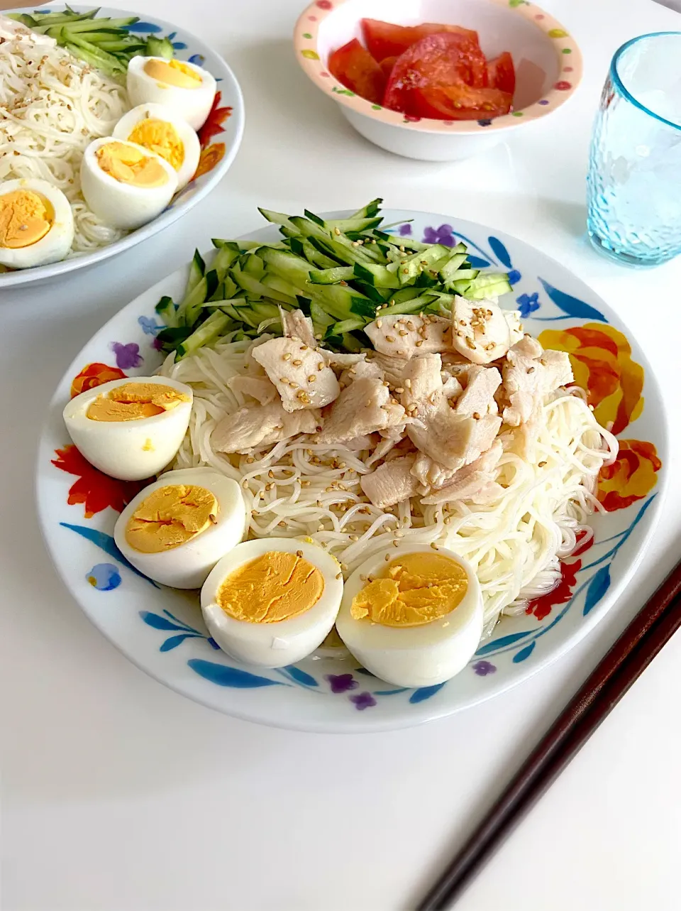
<svg viewBox="0 0 681 911">
<path fill-rule="evenodd" d="M 127 95 L 133 105 L 167 105 L 193 129 L 206 122 L 215 91 L 208 70 L 183 60 L 136 56 L 127 67 Z"/>
</svg>

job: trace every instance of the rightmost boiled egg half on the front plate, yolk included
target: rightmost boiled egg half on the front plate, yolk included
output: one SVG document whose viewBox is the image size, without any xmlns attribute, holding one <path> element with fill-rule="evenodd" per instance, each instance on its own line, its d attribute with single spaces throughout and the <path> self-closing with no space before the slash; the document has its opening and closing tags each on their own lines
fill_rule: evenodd
<svg viewBox="0 0 681 911">
<path fill-rule="evenodd" d="M 381 550 L 345 583 L 336 629 L 381 680 L 405 687 L 442 683 L 480 643 L 480 583 L 452 550 L 408 544 Z"/>
</svg>

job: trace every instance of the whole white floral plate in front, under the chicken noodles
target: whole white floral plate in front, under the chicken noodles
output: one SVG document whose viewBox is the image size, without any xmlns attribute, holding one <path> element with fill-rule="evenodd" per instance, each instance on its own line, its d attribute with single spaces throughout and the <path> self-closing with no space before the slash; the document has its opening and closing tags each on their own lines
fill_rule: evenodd
<svg viewBox="0 0 681 911">
<path fill-rule="evenodd" d="M 620 455 L 599 486 L 607 513 L 595 516 L 594 542 L 565 561 L 560 586 L 522 617 L 503 619 L 468 667 L 441 686 L 391 687 L 352 660 L 328 657 L 282 670 L 230 660 L 209 639 L 194 594 L 158 588 L 117 551 L 114 524 L 136 488 L 88 466 L 69 445 L 61 416 L 72 391 L 158 367 L 154 308 L 161 295 L 177 297 L 184 288 L 187 269 L 178 270 L 118 312 L 66 371 L 40 440 L 38 511 L 59 574 L 97 628 L 158 681 L 239 718 L 308 731 L 377 731 L 490 699 L 564 654 L 604 616 L 634 574 L 659 515 L 668 462 L 665 410 L 645 357 L 605 302 L 513 237 L 444 215 L 385 215 L 387 222 L 403 222 L 405 235 L 449 245 L 461 239 L 473 265 L 509 271 L 513 297 L 506 306 L 520 308 L 527 330 L 545 347 L 571 353 L 596 417 L 613 422 L 620 438 Z M 269 227 L 252 238 L 277 236 Z"/>
</svg>

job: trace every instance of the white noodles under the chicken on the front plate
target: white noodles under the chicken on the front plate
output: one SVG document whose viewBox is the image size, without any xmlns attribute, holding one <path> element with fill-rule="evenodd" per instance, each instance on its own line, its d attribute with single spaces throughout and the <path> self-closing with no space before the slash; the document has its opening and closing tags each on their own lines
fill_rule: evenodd
<svg viewBox="0 0 681 911">
<path fill-rule="evenodd" d="M 615 437 L 597 424 L 581 394 L 557 394 L 544 404 L 537 464 L 504 451 L 495 472 L 504 490 L 492 503 L 422 506 L 412 497 L 379 509 L 366 502 L 359 483 L 372 470 L 365 465 L 370 450 L 318 445 L 306 436 L 249 456 L 212 450 L 215 425 L 245 404 L 226 383 L 243 374 L 249 345 L 222 342 L 177 364 L 170 355 L 161 368 L 194 389 L 188 435 L 174 466 L 209 465 L 239 481 L 250 510 L 249 537 L 312 537 L 341 561 L 346 578 L 392 542 L 441 543 L 473 564 L 486 633 L 502 613 L 521 613 L 528 599 L 554 588 L 560 558 L 574 550 L 577 533 L 600 508 L 598 472 L 617 451 Z M 503 442 L 511 443 L 512 433 L 504 432 Z"/>
</svg>

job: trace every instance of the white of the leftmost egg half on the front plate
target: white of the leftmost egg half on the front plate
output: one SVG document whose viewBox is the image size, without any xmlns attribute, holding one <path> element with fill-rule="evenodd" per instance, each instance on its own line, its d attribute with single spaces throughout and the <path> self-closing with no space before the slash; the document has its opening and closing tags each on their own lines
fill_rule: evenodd
<svg viewBox="0 0 681 911">
<path fill-rule="evenodd" d="M 87 409 L 98 395 L 127 383 L 157 383 L 188 395 L 188 402 L 137 421 L 94 421 Z M 127 376 L 76 395 L 64 409 L 64 423 L 77 450 L 105 475 L 123 481 L 142 481 L 162 471 L 178 454 L 187 433 L 191 386 L 165 376 Z"/>
</svg>

